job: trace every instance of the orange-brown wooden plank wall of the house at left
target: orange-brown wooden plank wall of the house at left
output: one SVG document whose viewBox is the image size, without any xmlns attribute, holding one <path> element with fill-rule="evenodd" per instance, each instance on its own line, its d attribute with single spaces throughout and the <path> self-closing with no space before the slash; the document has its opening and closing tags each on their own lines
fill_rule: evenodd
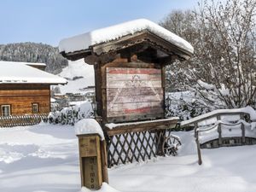
<svg viewBox="0 0 256 192">
<path fill-rule="evenodd" d="M 11 105 L 12 115 L 32 114 L 33 102 L 39 113 L 49 113 L 49 98 L 49 84 L 0 84 L 0 106 Z"/>
</svg>

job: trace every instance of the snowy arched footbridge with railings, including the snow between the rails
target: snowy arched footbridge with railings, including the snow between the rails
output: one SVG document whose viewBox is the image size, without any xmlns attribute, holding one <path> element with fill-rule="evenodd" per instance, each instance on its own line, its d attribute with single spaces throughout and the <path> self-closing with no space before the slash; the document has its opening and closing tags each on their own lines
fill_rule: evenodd
<svg viewBox="0 0 256 192">
<path fill-rule="evenodd" d="M 200 165 L 200 148 L 256 144 L 256 112 L 251 107 L 215 110 L 181 122 L 187 125 L 194 125 Z"/>
</svg>

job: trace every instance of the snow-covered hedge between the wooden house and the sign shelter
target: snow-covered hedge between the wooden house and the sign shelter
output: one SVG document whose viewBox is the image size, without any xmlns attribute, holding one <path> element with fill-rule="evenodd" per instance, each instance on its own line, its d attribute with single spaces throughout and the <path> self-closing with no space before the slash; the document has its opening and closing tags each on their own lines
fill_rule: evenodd
<svg viewBox="0 0 256 192">
<path fill-rule="evenodd" d="M 56 111 L 49 114 L 49 123 L 74 125 L 80 119 L 86 119 L 93 116 L 93 110 L 90 102 L 83 102 L 82 104 L 73 107 L 63 108 L 61 111 Z"/>
</svg>

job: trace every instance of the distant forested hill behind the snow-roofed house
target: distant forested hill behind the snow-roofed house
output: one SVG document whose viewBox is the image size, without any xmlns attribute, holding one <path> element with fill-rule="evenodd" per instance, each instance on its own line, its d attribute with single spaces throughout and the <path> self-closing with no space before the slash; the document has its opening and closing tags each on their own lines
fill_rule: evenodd
<svg viewBox="0 0 256 192">
<path fill-rule="evenodd" d="M 59 50 L 49 44 L 19 43 L 0 44 L 0 61 L 44 62 L 49 73 L 61 73 L 67 67 L 67 60 Z"/>
</svg>

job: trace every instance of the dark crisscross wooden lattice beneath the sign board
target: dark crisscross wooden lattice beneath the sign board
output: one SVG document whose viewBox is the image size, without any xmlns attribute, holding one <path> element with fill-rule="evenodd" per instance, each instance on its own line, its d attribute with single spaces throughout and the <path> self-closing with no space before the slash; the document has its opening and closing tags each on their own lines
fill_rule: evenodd
<svg viewBox="0 0 256 192">
<path fill-rule="evenodd" d="M 129 131 L 109 136 L 108 167 L 164 155 L 162 143 L 170 134 L 171 129 Z"/>
</svg>

